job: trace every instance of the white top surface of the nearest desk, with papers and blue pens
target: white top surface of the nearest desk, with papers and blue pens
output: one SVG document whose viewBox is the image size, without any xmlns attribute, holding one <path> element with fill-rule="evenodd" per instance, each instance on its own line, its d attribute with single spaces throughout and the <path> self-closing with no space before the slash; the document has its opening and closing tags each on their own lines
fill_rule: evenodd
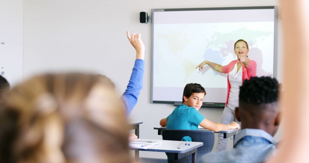
<svg viewBox="0 0 309 163">
<path fill-rule="evenodd" d="M 184 141 L 173 141 L 173 140 L 155 140 L 155 139 L 137 139 L 142 141 L 161 141 L 162 143 L 151 146 L 148 149 L 135 149 L 139 151 L 153 151 L 153 152 L 168 152 L 168 153 L 186 153 L 195 148 L 203 146 L 202 142 L 186 142 L 190 143 L 190 145 L 185 145 L 182 149 L 178 149 L 177 147 L 183 143 Z"/>
</svg>

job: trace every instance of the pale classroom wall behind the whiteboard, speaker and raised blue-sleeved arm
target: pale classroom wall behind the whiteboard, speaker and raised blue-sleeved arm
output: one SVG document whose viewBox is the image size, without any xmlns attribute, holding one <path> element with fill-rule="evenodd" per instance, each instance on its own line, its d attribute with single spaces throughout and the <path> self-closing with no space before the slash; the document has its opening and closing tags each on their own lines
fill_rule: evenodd
<svg viewBox="0 0 309 163">
<path fill-rule="evenodd" d="M 139 23 L 139 12 L 159 8 L 277 6 L 277 0 L 24 0 L 23 78 L 36 73 L 78 70 L 105 74 L 122 94 L 128 84 L 135 51 L 126 30 L 142 33 L 146 46 L 144 88 L 131 121 L 142 121 L 140 138 L 162 139 L 153 129 L 174 109 L 150 103 L 151 23 Z M 241 18 L 241 15 L 235 15 Z M 279 27 L 279 35 L 281 27 Z M 279 36 L 278 66 L 282 62 Z M 281 71 L 278 69 L 281 81 Z M 181 97 L 181 95 L 180 95 Z M 206 97 L 207 98 L 207 97 Z M 220 122 L 223 109 L 201 108 L 205 118 Z M 276 135 L 279 140 L 281 134 Z M 230 141 L 228 148 L 232 147 Z M 140 157 L 166 158 L 165 153 L 140 152 Z"/>
</svg>

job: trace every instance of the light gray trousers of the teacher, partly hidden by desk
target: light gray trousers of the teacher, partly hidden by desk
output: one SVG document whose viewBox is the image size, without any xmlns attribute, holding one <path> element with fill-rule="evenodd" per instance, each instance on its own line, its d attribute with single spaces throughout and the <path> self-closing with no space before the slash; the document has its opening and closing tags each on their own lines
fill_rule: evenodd
<svg viewBox="0 0 309 163">
<path fill-rule="evenodd" d="M 240 122 L 236 120 L 234 110 L 231 109 L 230 107 L 224 107 L 222 117 L 221 117 L 221 122 L 220 123 L 231 123 L 231 122 L 237 122 L 240 125 Z M 223 138 L 223 134 L 220 133 L 218 134 L 218 142 L 217 142 L 217 148 L 216 151 L 223 151 L 226 149 L 227 146 L 227 140 Z"/>
</svg>

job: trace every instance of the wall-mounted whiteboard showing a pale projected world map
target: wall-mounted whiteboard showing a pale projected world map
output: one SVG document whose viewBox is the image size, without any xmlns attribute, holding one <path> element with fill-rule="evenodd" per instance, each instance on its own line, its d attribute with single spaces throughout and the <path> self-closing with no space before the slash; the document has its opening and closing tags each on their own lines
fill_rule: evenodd
<svg viewBox="0 0 309 163">
<path fill-rule="evenodd" d="M 153 9 L 151 17 L 151 102 L 179 102 L 187 83 L 199 83 L 204 102 L 225 103 L 226 74 L 195 67 L 205 60 L 229 64 L 239 39 L 248 42 L 257 76 L 277 76 L 276 6 Z"/>
</svg>

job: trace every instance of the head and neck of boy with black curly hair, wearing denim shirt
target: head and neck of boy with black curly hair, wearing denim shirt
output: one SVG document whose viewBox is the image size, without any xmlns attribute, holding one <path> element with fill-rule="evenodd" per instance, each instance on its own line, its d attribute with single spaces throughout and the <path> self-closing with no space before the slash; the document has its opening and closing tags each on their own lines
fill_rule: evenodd
<svg viewBox="0 0 309 163">
<path fill-rule="evenodd" d="M 240 86 L 235 117 L 241 128 L 262 129 L 274 136 L 280 123 L 279 84 L 272 77 L 251 77 Z"/>
</svg>

